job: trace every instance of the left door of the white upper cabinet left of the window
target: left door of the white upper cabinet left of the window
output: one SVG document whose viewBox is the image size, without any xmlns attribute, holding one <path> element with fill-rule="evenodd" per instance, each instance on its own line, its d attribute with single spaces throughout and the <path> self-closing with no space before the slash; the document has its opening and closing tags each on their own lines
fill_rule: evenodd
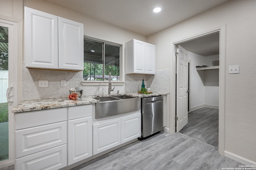
<svg viewBox="0 0 256 170">
<path fill-rule="evenodd" d="M 58 17 L 25 7 L 25 66 L 58 68 Z"/>
</svg>

